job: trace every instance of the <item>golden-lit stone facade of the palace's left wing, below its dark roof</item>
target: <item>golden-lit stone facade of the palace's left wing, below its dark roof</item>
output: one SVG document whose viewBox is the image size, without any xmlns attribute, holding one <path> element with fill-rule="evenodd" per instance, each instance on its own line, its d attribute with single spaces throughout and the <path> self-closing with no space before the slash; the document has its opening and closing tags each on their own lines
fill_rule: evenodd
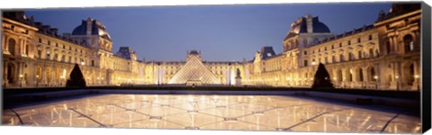
<svg viewBox="0 0 432 135">
<path fill-rule="evenodd" d="M 125 58 L 112 53 L 112 41 L 107 34 L 58 35 L 56 28 L 35 23 L 23 12 L 4 13 L 2 19 L 3 86 L 66 85 L 76 63 L 87 85 L 144 81 L 141 78 L 145 63 L 136 57 Z M 83 21 L 87 22 L 103 26 L 91 18 Z"/>
</svg>

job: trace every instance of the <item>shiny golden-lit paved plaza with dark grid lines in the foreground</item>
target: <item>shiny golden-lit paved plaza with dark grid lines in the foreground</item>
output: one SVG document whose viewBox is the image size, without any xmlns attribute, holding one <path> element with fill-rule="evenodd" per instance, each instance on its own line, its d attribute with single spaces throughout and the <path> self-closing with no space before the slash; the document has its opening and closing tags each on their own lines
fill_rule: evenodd
<svg viewBox="0 0 432 135">
<path fill-rule="evenodd" d="M 374 133 L 421 130 L 419 117 L 379 106 L 365 108 L 269 95 L 95 94 L 7 109 L 2 121 L 26 126 L 190 130 Z"/>
</svg>

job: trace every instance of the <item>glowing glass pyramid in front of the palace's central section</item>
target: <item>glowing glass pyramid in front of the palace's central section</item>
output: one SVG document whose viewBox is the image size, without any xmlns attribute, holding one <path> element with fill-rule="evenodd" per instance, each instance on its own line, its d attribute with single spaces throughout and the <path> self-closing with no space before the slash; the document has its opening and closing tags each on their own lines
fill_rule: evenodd
<svg viewBox="0 0 432 135">
<path fill-rule="evenodd" d="M 202 85 L 220 84 L 220 80 L 202 65 L 201 59 L 197 57 L 189 58 L 184 67 L 175 73 L 168 84 L 186 84 L 188 82 Z"/>
</svg>

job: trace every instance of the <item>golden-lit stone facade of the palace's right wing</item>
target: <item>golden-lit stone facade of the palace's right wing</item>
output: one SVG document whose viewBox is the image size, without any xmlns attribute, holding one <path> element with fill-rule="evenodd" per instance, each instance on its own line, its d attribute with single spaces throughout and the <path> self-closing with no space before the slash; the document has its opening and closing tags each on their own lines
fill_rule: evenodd
<svg viewBox="0 0 432 135">
<path fill-rule="evenodd" d="M 292 24 L 283 53 L 245 63 L 244 84 L 309 87 L 323 63 L 336 87 L 419 90 L 420 17 L 419 4 L 393 4 L 376 23 L 339 35 L 292 32 L 306 15 Z"/>
</svg>

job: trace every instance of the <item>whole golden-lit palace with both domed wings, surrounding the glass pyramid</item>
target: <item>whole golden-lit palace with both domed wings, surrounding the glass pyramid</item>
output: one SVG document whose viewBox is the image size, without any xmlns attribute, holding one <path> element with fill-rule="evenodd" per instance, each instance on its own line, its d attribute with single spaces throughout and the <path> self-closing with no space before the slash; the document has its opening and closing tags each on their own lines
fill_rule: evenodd
<svg viewBox="0 0 432 135">
<path fill-rule="evenodd" d="M 206 61 L 190 50 L 184 61 L 146 61 L 130 47 L 112 52 L 106 27 L 92 18 L 59 35 L 23 12 L 5 12 L 2 85 L 65 85 L 79 64 L 87 85 L 310 87 L 322 63 L 336 87 L 419 90 L 420 20 L 420 4 L 393 4 L 375 23 L 335 34 L 307 14 L 291 24 L 281 53 L 266 46 L 252 60 Z"/>
</svg>

